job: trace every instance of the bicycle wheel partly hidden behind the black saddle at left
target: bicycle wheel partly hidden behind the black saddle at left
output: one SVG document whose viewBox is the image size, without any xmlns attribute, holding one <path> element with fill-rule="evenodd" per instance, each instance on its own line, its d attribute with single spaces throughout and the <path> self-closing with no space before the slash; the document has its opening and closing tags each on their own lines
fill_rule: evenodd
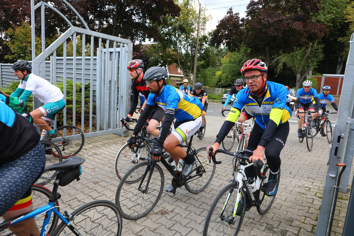
<svg viewBox="0 0 354 236">
<path fill-rule="evenodd" d="M 43 145 L 45 151 L 45 166 L 63 161 L 62 152 L 58 146 L 46 140 L 41 140 L 40 143 Z M 55 155 L 53 153 L 55 153 Z M 47 171 L 42 173 L 42 175 L 37 179 L 35 183 L 38 185 L 45 185 L 51 180 L 54 180 L 56 176 L 57 171 Z"/>
</svg>

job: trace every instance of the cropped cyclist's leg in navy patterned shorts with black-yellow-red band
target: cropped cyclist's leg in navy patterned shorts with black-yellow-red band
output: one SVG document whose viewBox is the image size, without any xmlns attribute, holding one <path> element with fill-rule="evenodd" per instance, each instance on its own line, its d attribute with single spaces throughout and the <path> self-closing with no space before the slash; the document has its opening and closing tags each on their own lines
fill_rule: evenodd
<svg viewBox="0 0 354 236">
<path fill-rule="evenodd" d="M 1 165 L 0 195 L 4 197 L 0 199 L 0 215 L 3 214 L 4 219 L 32 210 L 31 186 L 40 175 L 44 164 L 45 153 L 39 143 L 22 157 Z M 14 225 L 11 231 L 17 235 L 39 235 L 34 219 Z"/>
</svg>

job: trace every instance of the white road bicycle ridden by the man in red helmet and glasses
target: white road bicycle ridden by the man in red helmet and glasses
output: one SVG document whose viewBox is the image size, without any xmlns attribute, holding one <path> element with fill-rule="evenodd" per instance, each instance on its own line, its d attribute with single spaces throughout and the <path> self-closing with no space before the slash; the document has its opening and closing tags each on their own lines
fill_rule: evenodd
<svg viewBox="0 0 354 236">
<path fill-rule="evenodd" d="M 209 149 L 210 155 L 212 150 L 212 148 Z M 215 154 L 219 152 L 233 156 L 234 172 L 230 183 L 220 191 L 209 209 L 203 236 L 237 236 L 246 211 L 251 207 L 257 207 L 259 214 L 265 214 L 274 203 L 276 194 L 274 196 L 264 194 L 267 187 L 266 178 L 269 174 L 266 159 L 264 159 L 265 165 L 261 161 L 249 163 L 249 157 L 245 154 L 245 151 L 234 153 L 219 149 Z M 212 158 L 216 159 L 215 155 L 212 155 Z M 255 177 L 246 177 L 245 169 L 252 166 Z M 280 171 L 277 176 L 277 185 L 279 186 Z"/>
</svg>

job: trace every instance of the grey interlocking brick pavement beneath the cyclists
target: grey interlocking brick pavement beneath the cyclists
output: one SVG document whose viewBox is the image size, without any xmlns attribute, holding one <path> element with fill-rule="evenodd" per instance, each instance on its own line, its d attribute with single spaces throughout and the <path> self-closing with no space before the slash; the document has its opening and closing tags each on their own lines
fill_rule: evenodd
<svg viewBox="0 0 354 236">
<path fill-rule="evenodd" d="M 220 110 L 220 105 L 215 106 Z M 225 119 L 219 114 L 209 114 L 206 116 L 207 133 L 202 141 L 194 142 L 196 148 L 211 145 Z M 291 122 L 289 138 L 281 155 L 282 176 L 275 203 L 263 216 L 257 213 L 256 208 L 246 212 L 239 236 L 315 236 L 329 144 L 325 138 L 316 136 L 314 148 L 309 152 L 306 142 L 298 142 L 296 129 L 296 123 Z M 60 204 L 66 210 L 71 211 L 96 199 L 114 202 L 119 184 L 114 174 L 114 161 L 126 140 L 117 135 L 86 139 L 79 154 L 86 159 L 81 180 L 59 190 L 62 193 Z M 210 205 L 231 177 L 231 159 L 219 158 L 223 163 L 217 166 L 215 176 L 205 191 L 191 194 L 182 187 L 175 195 L 163 193 L 158 206 L 146 217 L 136 221 L 124 220 L 123 235 L 201 235 Z M 165 172 L 164 185 L 168 186 L 170 181 L 169 174 Z M 348 194 L 339 193 L 332 236 L 339 236 L 343 231 L 348 199 Z"/>
</svg>

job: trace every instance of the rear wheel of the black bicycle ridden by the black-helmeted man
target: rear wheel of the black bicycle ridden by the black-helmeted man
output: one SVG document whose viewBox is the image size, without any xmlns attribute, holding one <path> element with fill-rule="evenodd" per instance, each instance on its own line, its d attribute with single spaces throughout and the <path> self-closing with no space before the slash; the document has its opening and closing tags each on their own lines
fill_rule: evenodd
<svg viewBox="0 0 354 236">
<path fill-rule="evenodd" d="M 184 183 L 190 193 L 200 193 L 209 185 L 216 166 L 214 162 L 209 163 L 205 158 L 207 156 L 206 147 L 198 148 L 195 152 L 197 160 L 193 166 L 192 174 L 187 177 Z"/>
</svg>

